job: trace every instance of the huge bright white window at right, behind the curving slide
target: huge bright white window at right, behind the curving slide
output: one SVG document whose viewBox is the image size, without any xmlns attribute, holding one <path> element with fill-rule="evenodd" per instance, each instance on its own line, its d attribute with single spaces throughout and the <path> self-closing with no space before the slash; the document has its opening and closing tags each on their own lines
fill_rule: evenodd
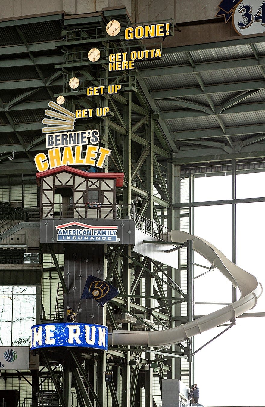
<svg viewBox="0 0 265 407">
<path fill-rule="evenodd" d="M 237 174 L 236 198 L 253 199 L 256 202 L 236 203 L 233 212 L 232 177 L 213 176 L 194 179 L 193 223 L 194 234 L 200 236 L 223 252 L 232 260 L 232 213 L 236 225 L 237 265 L 253 274 L 264 286 L 263 254 L 265 203 L 259 197 L 265 197 L 265 173 Z M 217 205 L 215 201 L 222 201 Z M 204 202 L 203 206 L 200 202 Z M 220 202 L 219 202 L 220 203 Z M 210 264 L 201 256 L 194 254 L 194 263 L 210 268 Z M 217 270 L 210 271 L 195 265 L 194 291 L 195 315 L 206 315 L 221 309 L 232 302 L 232 284 Z M 200 274 L 204 274 L 199 278 Z M 237 299 L 240 293 L 237 292 Z M 262 375 L 264 357 L 259 349 L 263 348 L 264 336 L 264 294 L 258 299 L 257 306 L 248 313 L 261 313 L 259 317 L 238 317 L 236 326 L 211 341 L 228 327 L 228 324 L 211 329 L 194 338 L 194 350 L 203 347 L 195 354 L 194 381 L 200 388 L 199 403 L 204 405 L 254 405 L 260 395 L 253 392 L 257 377 Z M 255 314 L 254 314 L 255 315 Z M 238 394 L 234 389 L 245 383 L 248 375 L 247 391 Z M 222 389 L 218 397 L 210 389 Z"/>
</svg>

